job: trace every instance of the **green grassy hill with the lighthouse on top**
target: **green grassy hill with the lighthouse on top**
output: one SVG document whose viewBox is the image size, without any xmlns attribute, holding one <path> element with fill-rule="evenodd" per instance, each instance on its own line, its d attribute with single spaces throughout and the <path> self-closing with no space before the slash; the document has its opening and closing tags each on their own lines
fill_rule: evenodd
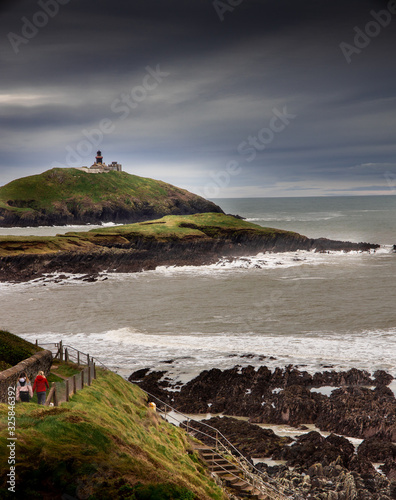
<svg viewBox="0 0 396 500">
<path fill-rule="evenodd" d="M 170 214 L 222 212 L 204 198 L 127 172 L 54 168 L 0 187 L 0 226 L 135 222 Z"/>
</svg>

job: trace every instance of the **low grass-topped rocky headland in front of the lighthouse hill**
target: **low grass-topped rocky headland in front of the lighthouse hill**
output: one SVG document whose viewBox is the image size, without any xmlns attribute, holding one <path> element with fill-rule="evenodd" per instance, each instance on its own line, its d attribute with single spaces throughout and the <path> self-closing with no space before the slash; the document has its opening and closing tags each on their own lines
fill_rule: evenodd
<svg viewBox="0 0 396 500">
<path fill-rule="evenodd" d="M 96 276 L 108 270 L 135 273 L 158 266 L 202 266 L 221 258 L 266 252 L 369 252 L 379 248 L 371 243 L 307 238 L 223 214 L 168 216 L 56 237 L 0 236 L 0 281 L 29 281 L 48 273 Z"/>
</svg>

